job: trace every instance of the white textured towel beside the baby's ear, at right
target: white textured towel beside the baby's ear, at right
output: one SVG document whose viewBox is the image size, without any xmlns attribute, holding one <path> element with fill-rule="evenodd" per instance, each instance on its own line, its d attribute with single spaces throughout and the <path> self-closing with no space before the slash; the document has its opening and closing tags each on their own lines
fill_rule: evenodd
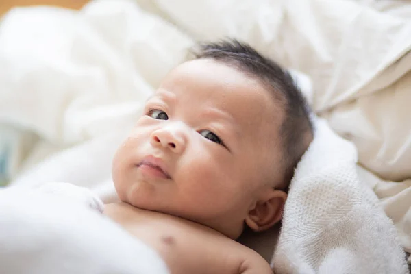
<svg viewBox="0 0 411 274">
<path fill-rule="evenodd" d="M 277 273 L 408 273 L 395 227 L 356 162 L 356 148 L 317 121 L 290 185 Z"/>
</svg>

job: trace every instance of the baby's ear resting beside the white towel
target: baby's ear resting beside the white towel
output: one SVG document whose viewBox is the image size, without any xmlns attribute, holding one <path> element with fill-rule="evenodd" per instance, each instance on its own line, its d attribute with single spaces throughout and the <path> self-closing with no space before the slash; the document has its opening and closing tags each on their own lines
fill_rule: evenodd
<svg viewBox="0 0 411 274">
<path fill-rule="evenodd" d="M 255 232 L 273 227 L 282 218 L 287 193 L 282 190 L 266 190 L 256 206 L 249 211 L 245 223 Z"/>
</svg>

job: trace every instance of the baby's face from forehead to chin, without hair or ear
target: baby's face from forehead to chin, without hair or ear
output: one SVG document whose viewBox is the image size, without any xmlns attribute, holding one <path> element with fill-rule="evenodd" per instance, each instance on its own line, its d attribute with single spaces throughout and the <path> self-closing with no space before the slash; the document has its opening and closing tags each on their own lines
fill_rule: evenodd
<svg viewBox="0 0 411 274">
<path fill-rule="evenodd" d="M 116 153 L 118 195 L 238 233 L 259 195 L 282 177 L 275 172 L 282 119 L 258 80 L 214 60 L 177 66 Z"/>
</svg>

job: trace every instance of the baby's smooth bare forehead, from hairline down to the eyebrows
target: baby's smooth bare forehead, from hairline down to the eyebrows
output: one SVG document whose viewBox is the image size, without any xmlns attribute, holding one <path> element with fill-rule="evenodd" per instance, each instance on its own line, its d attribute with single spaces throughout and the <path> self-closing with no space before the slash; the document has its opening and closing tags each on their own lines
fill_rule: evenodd
<svg viewBox="0 0 411 274">
<path fill-rule="evenodd" d="M 219 110 L 245 129 L 269 124 L 279 127 L 282 107 L 266 85 L 215 60 L 193 60 L 175 68 L 163 80 L 159 94 L 170 93 L 184 108 Z"/>
</svg>

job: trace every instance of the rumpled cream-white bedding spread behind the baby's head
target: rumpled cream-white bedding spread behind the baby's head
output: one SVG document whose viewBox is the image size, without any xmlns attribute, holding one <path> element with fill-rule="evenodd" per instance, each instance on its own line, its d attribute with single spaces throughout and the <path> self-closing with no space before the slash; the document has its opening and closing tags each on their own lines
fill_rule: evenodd
<svg viewBox="0 0 411 274">
<path fill-rule="evenodd" d="M 312 108 L 384 178 L 359 173 L 411 251 L 411 14 L 407 3 L 397 16 L 377 2 L 387 3 L 135 0 L 12 10 L 0 23 L 0 123 L 16 127 L 19 141 L 6 173 L 13 184 L 71 182 L 116 199 L 111 158 L 142 103 L 195 40 L 234 36 L 312 79 Z"/>
</svg>

